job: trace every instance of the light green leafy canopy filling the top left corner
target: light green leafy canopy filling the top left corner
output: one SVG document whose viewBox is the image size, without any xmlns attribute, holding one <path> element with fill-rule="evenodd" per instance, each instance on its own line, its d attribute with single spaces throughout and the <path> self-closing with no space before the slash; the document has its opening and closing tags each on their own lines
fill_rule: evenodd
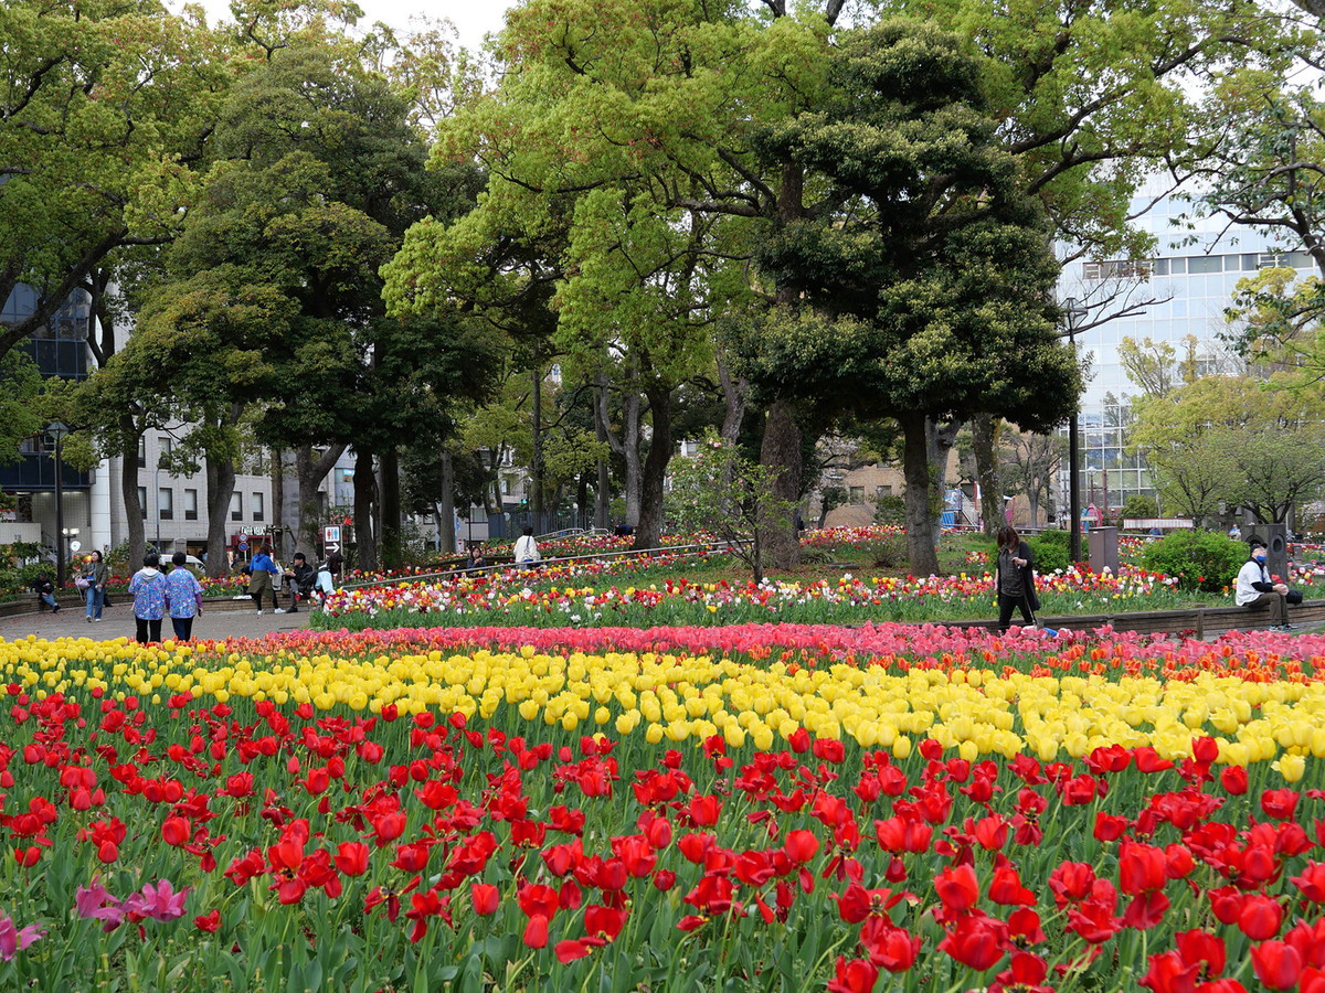
<svg viewBox="0 0 1325 993">
<path fill-rule="evenodd" d="M 156 0 L 11 0 L 0 50 L 0 302 L 38 301 L 4 356 L 119 249 L 172 237 L 231 68 Z"/>
</svg>

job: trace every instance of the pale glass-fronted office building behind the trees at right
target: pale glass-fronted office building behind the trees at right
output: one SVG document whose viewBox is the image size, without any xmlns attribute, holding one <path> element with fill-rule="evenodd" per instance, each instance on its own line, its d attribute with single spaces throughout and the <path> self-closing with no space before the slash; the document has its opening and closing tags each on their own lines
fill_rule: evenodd
<svg viewBox="0 0 1325 993">
<path fill-rule="evenodd" d="M 1133 213 L 1155 201 L 1157 195 L 1133 200 Z M 1140 391 L 1122 368 L 1118 344 L 1125 338 L 1137 342 L 1149 338 L 1173 346 L 1177 357 L 1183 359 L 1191 336 L 1198 342 L 1198 360 L 1216 361 L 1228 351 L 1220 335 L 1231 330 L 1224 311 L 1234 302 L 1240 279 L 1269 266 L 1293 267 L 1302 275 L 1314 273 L 1305 252 L 1279 250 L 1256 230 L 1228 228 L 1218 217 L 1190 214 L 1191 204 L 1186 200 L 1159 196 L 1138 220 L 1140 226 L 1155 236 L 1151 258 L 1076 260 L 1064 266 L 1059 279 L 1060 302 L 1076 299 L 1089 305 L 1116 297 L 1105 314 L 1120 307 L 1141 311 L 1076 334 L 1077 348 L 1090 357 L 1079 421 L 1083 508 L 1094 504 L 1116 510 L 1132 494 L 1155 495 L 1145 459 L 1126 453 L 1130 397 Z M 1092 312 L 1079 323 L 1097 319 Z M 1060 483 L 1059 506 L 1065 508 L 1065 465 Z"/>
</svg>

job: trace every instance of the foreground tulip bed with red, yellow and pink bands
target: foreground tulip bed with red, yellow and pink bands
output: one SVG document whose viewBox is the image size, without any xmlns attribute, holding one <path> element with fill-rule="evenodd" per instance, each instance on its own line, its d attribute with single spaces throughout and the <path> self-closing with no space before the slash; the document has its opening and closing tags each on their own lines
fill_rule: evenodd
<svg viewBox="0 0 1325 993">
<path fill-rule="evenodd" d="M 1325 990 L 1325 638 L 905 630 L 0 642 L 0 985 Z"/>
</svg>

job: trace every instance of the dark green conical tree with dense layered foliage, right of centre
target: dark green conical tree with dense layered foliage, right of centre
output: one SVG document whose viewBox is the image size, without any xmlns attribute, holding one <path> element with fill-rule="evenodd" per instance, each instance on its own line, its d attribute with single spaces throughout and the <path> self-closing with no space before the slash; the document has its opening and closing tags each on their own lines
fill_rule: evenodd
<svg viewBox="0 0 1325 993">
<path fill-rule="evenodd" d="M 1045 229 L 992 142 L 978 62 L 953 36 L 889 21 L 845 34 L 829 81 L 824 109 L 762 139 L 841 209 L 784 225 L 761 250 L 762 271 L 799 303 L 770 311 L 747 375 L 766 395 L 900 424 L 908 553 L 928 575 L 934 426 L 983 410 L 1048 430 L 1080 375 L 1048 303 Z"/>
</svg>

